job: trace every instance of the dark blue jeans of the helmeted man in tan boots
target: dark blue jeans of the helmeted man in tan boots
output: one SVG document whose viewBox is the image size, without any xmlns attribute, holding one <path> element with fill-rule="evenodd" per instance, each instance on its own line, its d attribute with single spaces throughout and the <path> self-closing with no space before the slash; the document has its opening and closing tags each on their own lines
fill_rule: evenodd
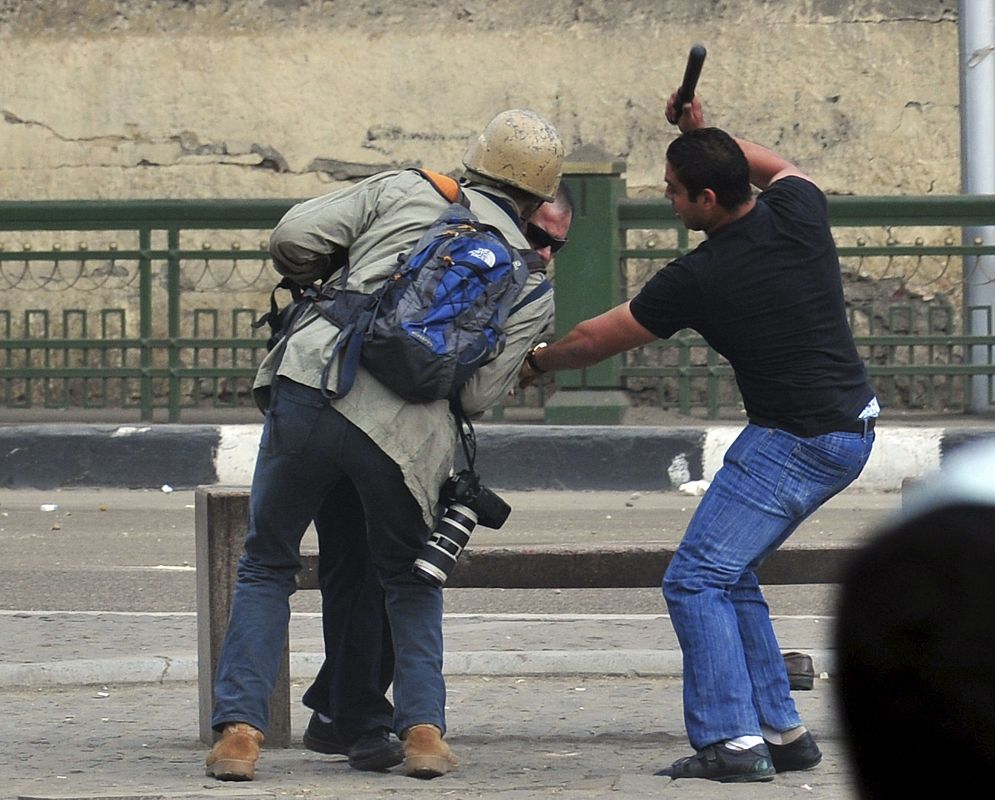
<svg viewBox="0 0 995 800">
<path fill-rule="evenodd" d="M 370 665 L 377 663 L 384 644 L 380 620 L 386 605 L 395 659 L 393 728 L 403 733 L 427 722 L 445 730 L 442 589 L 411 573 L 430 534 L 421 509 L 397 465 L 366 434 L 317 389 L 282 378 L 274 386 L 252 478 L 245 553 L 215 677 L 211 721 L 216 730 L 228 722 L 266 730 L 287 640 L 289 598 L 300 570 L 301 538 L 312 519 L 325 518 L 324 504 L 342 491 L 343 481 L 358 494 L 365 530 L 323 525 L 320 546 L 338 547 L 341 568 L 351 566 L 357 576 L 365 576 L 367 562 L 372 563 L 383 593 L 364 590 L 347 609 L 358 622 L 339 627 L 344 637 L 339 646 L 370 656 L 356 672 L 339 676 L 338 691 L 348 693 L 354 685 L 370 696 Z M 326 650 L 331 647 L 326 642 Z M 342 668 L 350 669 L 344 661 Z M 369 718 L 379 722 L 384 708 L 375 703 Z M 354 717 L 360 715 L 353 709 Z"/>
</svg>

